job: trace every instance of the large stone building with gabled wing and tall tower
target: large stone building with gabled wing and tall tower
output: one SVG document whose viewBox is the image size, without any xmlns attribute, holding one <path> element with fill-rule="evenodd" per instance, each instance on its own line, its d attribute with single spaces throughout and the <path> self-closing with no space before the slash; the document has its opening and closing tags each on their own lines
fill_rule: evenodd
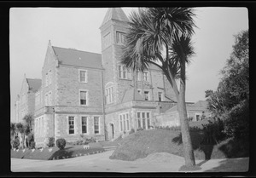
<svg viewBox="0 0 256 178">
<path fill-rule="evenodd" d="M 157 116 L 175 106 L 160 68 L 131 72 L 120 64 L 128 21 L 122 9 L 108 9 L 100 26 L 102 54 L 55 47 L 49 41 L 42 81 L 34 92 L 37 146 L 46 146 L 49 137 L 111 141 L 131 129 L 150 129 L 160 122 Z"/>
</svg>

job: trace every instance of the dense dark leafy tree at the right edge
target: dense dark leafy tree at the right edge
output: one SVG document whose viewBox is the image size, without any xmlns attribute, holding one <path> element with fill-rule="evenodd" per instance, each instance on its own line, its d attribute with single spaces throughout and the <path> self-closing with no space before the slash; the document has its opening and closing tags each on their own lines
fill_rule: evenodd
<svg viewBox="0 0 256 178">
<path fill-rule="evenodd" d="M 225 133 L 234 138 L 248 137 L 249 129 L 249 33 L 235 35 L 230 59 L 221 71 L 218 89 L 206 91 L 208 109 L 224 120 Z"/>
</svg>

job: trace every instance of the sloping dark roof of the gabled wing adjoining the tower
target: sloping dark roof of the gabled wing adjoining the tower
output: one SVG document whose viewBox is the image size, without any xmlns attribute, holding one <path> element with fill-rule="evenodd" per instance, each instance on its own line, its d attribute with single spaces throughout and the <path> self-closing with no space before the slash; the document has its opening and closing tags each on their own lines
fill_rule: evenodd
<svg viewBox="0 0 256 178">
<path fill-rule="evenodd" d="M 61 64 L 102 69 L 102 55 L 76 49 L 52 47 Z"/>
</svg>

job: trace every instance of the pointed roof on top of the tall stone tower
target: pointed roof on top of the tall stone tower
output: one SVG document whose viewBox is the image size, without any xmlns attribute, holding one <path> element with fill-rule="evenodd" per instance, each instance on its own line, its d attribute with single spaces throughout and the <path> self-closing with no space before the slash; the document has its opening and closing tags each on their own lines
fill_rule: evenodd
<svg viewBox="0 0 256 178">
<path fill-rule="evenodd" d="M 102 21 L 102 26 L 106 24 L 108 20 L 129 21 L 125 12 L 121 8 L 109 8 L 104 20 Z"/>
</svg>

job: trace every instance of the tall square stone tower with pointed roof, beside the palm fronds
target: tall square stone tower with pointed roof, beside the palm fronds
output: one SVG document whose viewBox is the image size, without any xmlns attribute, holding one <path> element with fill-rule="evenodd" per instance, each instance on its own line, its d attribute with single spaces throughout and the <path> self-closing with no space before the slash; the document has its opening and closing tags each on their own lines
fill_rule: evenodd
<svg viewBox="0 0 256 178">
<path fill-rule="evenodd" d="M 122 100 L 124 90 L 132 83 L 131 72 L 125 70 L 119 62 L 128 21 L 121 8 L 109 8 L 100 27 L 106 107 L 118 104 Z"/>
</svg>

